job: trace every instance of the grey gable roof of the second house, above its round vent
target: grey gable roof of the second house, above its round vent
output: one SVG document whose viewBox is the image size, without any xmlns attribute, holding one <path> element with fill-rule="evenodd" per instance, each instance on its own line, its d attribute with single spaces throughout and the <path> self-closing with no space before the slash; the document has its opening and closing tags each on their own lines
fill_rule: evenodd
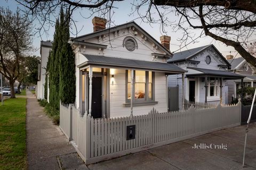
<svg viewBox="0 0 256 170">
<path fill-rule="evenodd" d="M 227 62 L 226 58 L 223 57 L 222 54 L 219 52 L 219 50 L 214 45 L 212 45 L 212 44 L 206 45 L 206 46 L 202 46 L 202 47 L 188 49 L 188 50 L 185 50 L 185 51 L 182 51 L 182 52 L 178 52 L 178 53 L 174 53 L 173 57 L 170 60 L 168 60 L 168 63 L 174 63 L 174 62 L 190 60 L 190 58 L 194 57 L 195 55 L 199 54 L 200 52 L 202 52 L 206 48 L 210 48 L 210 47 L 215 49 L 215 51 L 220 55 L 222 60 L 228 66 L 230 65 L 229 62 Z"/>
</svg>

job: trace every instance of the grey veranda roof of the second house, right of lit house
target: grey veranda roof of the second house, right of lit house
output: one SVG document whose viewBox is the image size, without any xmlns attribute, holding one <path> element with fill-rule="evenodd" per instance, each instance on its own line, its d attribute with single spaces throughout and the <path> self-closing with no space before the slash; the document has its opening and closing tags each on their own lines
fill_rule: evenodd
<svg viewBox="0 0 256 170">
<path fill-rule="evenodd" d="M 221 70 L 210 70 L 210 69 L 202 69 L 197 67 L 187 67 L 187 69 L 193 69 L 202 73 L 196 73 L 196 74 L 187 74 L 189 76 L 191 75 L 218 75 L 220 77 L 226 77 L 226 78 L 239 78 L 242 79 L 245 76 L 236 74 L 230 71 L 221 71 Z"/>
</svg>

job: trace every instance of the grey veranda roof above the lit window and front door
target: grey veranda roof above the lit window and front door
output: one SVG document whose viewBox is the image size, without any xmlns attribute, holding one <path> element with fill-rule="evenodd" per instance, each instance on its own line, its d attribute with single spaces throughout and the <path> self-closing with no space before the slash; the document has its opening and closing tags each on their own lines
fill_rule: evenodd
<svg viewBox="0 0 256 170">
<path fill-rule="evenodd" d="M 169 63 L 159 63 L 159 62 L 149 62 L 142 60 L 132 60 L 126 58 L 119 57 L 107 57 L 102 55 L 90 55 L 90 54 L 82 54 L 88 60 L 83 64 L 78 65 L 78 67 L 82 67 L 89 64 L 95 65 L 107 65 L 107 66 L 118 66 L 118 67 L 126 67 L 131 69 L 147 69 L 147 70 L 156 70 L 163 72 L 172 72 L 172 73 L 184 73 L 187 72 L 175 64 Z"/>
</svg>

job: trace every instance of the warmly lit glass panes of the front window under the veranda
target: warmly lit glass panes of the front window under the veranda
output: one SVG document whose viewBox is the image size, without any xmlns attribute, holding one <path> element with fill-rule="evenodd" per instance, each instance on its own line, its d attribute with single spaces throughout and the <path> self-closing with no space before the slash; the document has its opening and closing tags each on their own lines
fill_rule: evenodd
<svg viewBox="0 0 256 170">
<path fill-rule="evenodd" d="M 130 103 L 131 91 L 131 70 L 126 71 L 126 103 Z M 133 94 L 134 103 L 153 101 L 154 72 L 136 70 L 133 73 Z"/>
</svg>

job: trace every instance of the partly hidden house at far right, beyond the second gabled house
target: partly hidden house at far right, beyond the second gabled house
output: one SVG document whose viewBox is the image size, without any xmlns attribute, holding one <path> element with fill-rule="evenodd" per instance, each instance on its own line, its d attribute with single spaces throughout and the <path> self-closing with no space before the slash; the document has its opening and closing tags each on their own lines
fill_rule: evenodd
<svg viewBox="0 0 256 170">
<path fill-rule="evenodd" d="M 243 75 L 245 78 L 243 80 L 244 87 L 256 87 L 256 75 L 255 69 L 249 63 L 247 63 L 244 58 L 234 58 L 233 55 L 227 55 L 227 61 L 231 64 L 231 71 L 234 73 Z M 241 89 L 241 80 L 229 80 L 228 82 L 228 102 L 231 103 L 237 96 L 237 90 Z"/>
</svg>

